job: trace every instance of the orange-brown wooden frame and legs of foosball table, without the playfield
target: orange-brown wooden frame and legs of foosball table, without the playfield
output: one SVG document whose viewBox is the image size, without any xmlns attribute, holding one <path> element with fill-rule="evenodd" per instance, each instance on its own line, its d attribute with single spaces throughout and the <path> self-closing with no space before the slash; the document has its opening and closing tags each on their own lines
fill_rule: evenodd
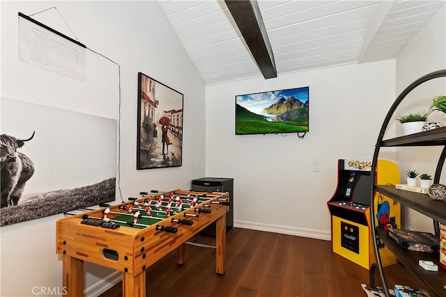
<svg viewBox="0 0 446 297">
<path fill-rule="evenodd" d="M 187 194 L 184 190 L 166 193 L 171 192 L 178 195 Z M 203 195 L 202 192 L 191 194 L 195 195 L 195 193 Z M 153 197 L 160 195 L 162 193 Z M 184 264 L 186 261 L 185 242 L 213 222 L 217 225 L 216 273 L 224 274 L 226 271 L 226 212 L 229 211 L 229 206 L 220 202 L 229 202 L 229 193 L 206 193 L 206 199 L 194 207 L 144 229 L 130 226 L 109 229 L 81 223 L 85 214 L 101 218 L 104 208 L 57 220 L 56 253 L 63 254 L 63 287 L 66 289 L 66 296 L 84 296 L 85 261 L 122 271 L 123 296 L 146 296 L 146 269 L 173 250 L 177 252 L 178 264 Z M 144 197 L 136 201 L 142 203 Z M 201 213 L 201 209 L 205 208 L 210 209 L 210 214 Z M 119 204 L 111 206 L 110 209 L 122 212 Z M 186 214 L 199 214 L 199 216 Z M 109 218 L 113 216 L 110 215 Z M 180 225 L 176 222 L 184 219 L 192 220 L 193 225 Z M 176 233 L 164 232 L 162 227 L 175 227 L 178 231 Z M 107 257 L 107 252 L 113 252 L 115 257 Z"/>
</svg>

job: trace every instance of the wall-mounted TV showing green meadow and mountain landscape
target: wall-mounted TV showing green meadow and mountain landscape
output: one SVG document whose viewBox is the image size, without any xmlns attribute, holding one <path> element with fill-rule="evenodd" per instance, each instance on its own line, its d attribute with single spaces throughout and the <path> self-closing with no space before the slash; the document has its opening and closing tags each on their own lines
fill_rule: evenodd
<svg viewBox="0 0 446 297">
<path fill-rule="evenodd" d="M 236 95 L 236 135 L 308 131 L 309 87 Z"/>
</svg>

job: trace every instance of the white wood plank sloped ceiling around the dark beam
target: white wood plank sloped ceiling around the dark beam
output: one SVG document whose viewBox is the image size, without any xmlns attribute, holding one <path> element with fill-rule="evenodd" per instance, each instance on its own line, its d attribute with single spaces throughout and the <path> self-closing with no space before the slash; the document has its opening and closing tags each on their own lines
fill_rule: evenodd
<svg viewBox="0 0 446 297">
<path fill-rule="evenodd" d="M 257 2 L 279 77 L 396 58 L 446 0 Z M 262 77 L 224 1 L 160 4 L 206 84 Z"/>
</svg>

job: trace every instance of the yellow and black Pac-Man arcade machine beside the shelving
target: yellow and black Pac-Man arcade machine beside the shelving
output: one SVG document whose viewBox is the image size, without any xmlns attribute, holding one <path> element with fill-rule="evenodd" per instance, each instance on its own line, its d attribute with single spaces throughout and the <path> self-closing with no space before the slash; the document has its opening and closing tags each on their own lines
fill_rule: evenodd
<svg viewBox="0 0 446 297">
<path fill-rule="evenodd" d="M 337 188 L 327 202 L 332 216 L 332 251 L 370 269 L 376 262 L 370 223 L 371 161 L 338 160 Z M 395 163 L 378 160 L 376 184 L 399 184 Z M 375 193 L 376 227 L 384 230 L 401 228 L 401 205 Z M 384 245 L 380 246 L 383 266 L 397 263 L 397 258 Z"/>
</svg>

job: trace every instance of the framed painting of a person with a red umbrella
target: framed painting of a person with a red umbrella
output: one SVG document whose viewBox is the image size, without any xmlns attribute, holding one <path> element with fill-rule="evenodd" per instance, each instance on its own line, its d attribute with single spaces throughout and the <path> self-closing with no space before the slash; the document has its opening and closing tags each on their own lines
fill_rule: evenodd
<svg viewBox="0 0 446 297">
<path fill-rule="evenodd" d="M 137 169 L 182 164 L 183 94 L 138 73 Z"/>
</svg>

